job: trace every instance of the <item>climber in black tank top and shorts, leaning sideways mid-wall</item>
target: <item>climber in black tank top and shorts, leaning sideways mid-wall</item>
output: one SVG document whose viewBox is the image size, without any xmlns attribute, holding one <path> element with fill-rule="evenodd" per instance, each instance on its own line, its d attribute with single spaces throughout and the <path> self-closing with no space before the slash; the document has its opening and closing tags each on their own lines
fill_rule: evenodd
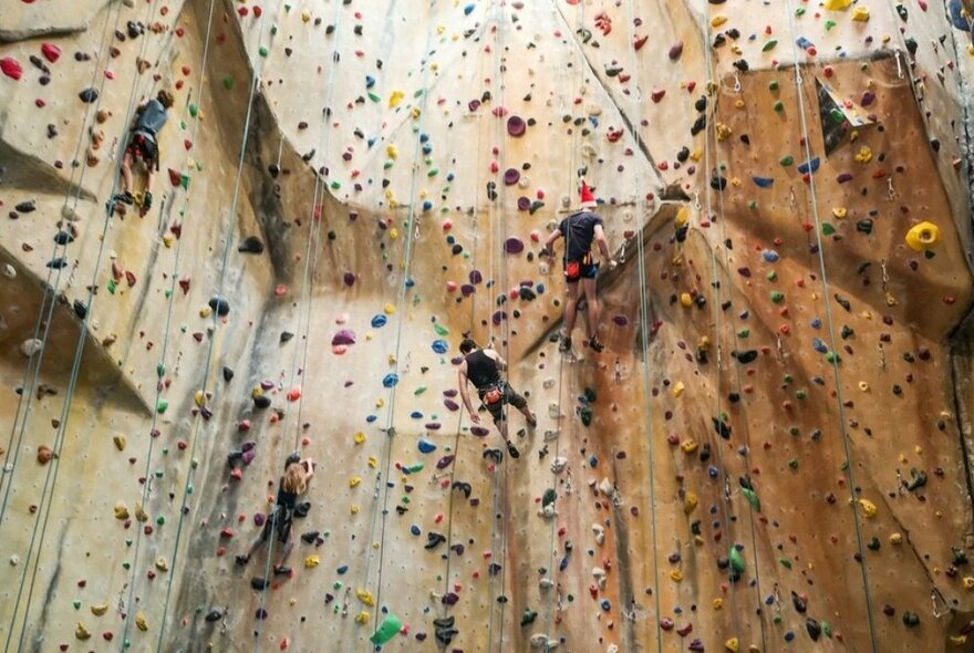
<svg viewBox="0 0 974 653">
<path fill-rule="evenodd" d="M 474 404 L 470 402 L 470 395 L 467 393 L 467 382 L 474 384 L 474 387 L 477 388 L 477 396 L 480 397 L 480 402 L 487 406 L 487 410 L 494 417 L 494 423 L 497 425 L 497 429 L 500 431 L 500 436 L 507 443 L 507 453 L 510 454 L 511 458 L 519 457 L 520 452 L 518 452 L 508 437 L 507 411 L 505 407 L 509 404 L 520 411 L 527 418 L 528 426 L 532 428 L 537 426 L 538 421 L 528 408 L 527 400 L 516 393 L 510 384 L 501 377 L 500 373 L 507 369 L 507 361 L 500 357 L 500 354 L 494 350 L 480 349 L 470 339 L 466 339 L 460 343 L 460 353 L 464 354 L 464 360 L 460 363 L 457 375 L 459 377 L 460 396 L 464 400 L 467 413 L 470 415 L 470 422 L 479 424 L 480 416 L 474 410 Z"/>
</svg>

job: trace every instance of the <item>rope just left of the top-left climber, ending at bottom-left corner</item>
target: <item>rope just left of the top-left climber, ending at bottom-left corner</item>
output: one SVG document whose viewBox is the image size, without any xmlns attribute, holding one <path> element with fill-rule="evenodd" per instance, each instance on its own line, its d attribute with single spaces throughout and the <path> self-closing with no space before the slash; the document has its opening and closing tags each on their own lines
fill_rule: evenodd
<svg viewBox="0 0 974 653">
<path fill-rule="evenodd" d="M 147 13 L 146 22 L 148 22 L 148 17 L 155 14 L 157 4 L 158 4 L 158 0 L 154 0 L 154 2 L 151 4 L 149 9 L 147 10 L 149 13 Z M 118 18 L 116 17 L 116 25 L 117 25 L 117 22 L 118 22 Z M 141 55 L 144 55 L 146 46 L 147 46 L 147 39 L 143 40 Z M 124 152 L 124 148 L 127 145 L 127 136 L 128 136 L 127 125 L 131 122 L 132 115 L 134 113 L 135 94 L 136 94 L 136 89 L 138 85 L 138 79 L 139 79 L 139 74 L 138 74 L 138 71 L 136 70 L 136 72 L 133 74 L 132 87 L 131 87 L 129 94 L 128 94 L 128 106 L 125 112 L 125 120 L 126 120 L 126 122 L 125 122 L 126 131 L 124 134 L 125 138 L 120 144 L 120 153 Z M 118 170 L 118 168 L 116 168 L 113 174 L 113 177 L 112 177 L 111 194 L 113 196 L 115 193 L 115 187 L 118 182 L 118 177 L 120 177 L 120 170 Z M 80 190 L 79 190 L 79 193 L 80 193 Z M 104 224 L 102 227 L 102 236 L 100 238 L 99 253 L 95 258 L 95 266 L 92 271 L 92 282 L 87 287 L 89 288 L 87 301 L 84 304 L 86 310 L 84 313 L 84 318 L 82 319 L 81 328 L 79 329 L 77 343 L 75 344 L 75 351 L 74 351 L 74 359 L 72 361 L 71 372 L 69 374 L 68 390 L 65 392 L 64 402 L 62 403 L 62 406 L 61 406 L 61 414 L 60 414 L 60 419 L 58 423 L 58 431 L 54 435 L 54 446 L 52 447 L 53 456 L 50 462 L 50 465 L 48 466 L 48 470 L 44 475 L 44 485 L 41 490 L 41 499 L 38 502 L 38 511 L 37 511 L 38 518 L 34 520 L 34 525 L 31 529 L 30 545 L 29 545 L 28 552 L 27 552 L 25 560 L 24 560 L 23 572 L 21 573 L 20 587 L 18 589 L 17 601 L 14 603 L 14 608 L 13 608 L 13 611 L 11 614 L 10 632 L 12 633 L 14 623 L 17 622 L 17 616 L 20 611 L 20 604 L 21 604 L 21 601 L 23 600 L 23 585 L 25 583 L 28 569 L 32 567 L 33 569 L 31 572 L 31 579 L 30 579 L 30 583 L 28 587 L 27 601 L 24 604 L 24 619 L 21 622 L 21 628 L 20 628 L 20 639 L 18 642 L 18 646 L 19 646 L 18 650 L 20 650 L 23 646 L 23 639 L 27 634 L 28 623 L 30 621 L 29 620 L 30 608 L 31 608 L 31 602 L 33 599 L 33 591 L 34 591 L 35 582 L 37 582 L 38 570 L 40 567 L 41 547 L 43 546 L 44 538 L 45 538 L 46 531 L 48 531 L 48 524 L 49 524 L 49 520 L 51 517 L 51 504 L 52 504 L 53 497 L 54 497 L 54 490 L 55 490 L 55 486 L 56 486 L 56 481 L 58 481 L 58 475 L 61 469 L 60 454 L 61 454 L 61 449 L 64 444 L 64 437 L 66 435 L 68 417 L 70 415 L 70 410 L 71 410 L 71 406 L 72 406 L 72 403 L 74 400 L 74 391 L 77 385 L 77 377 L 81 372 L 81 359 L 82 359 L 82 354 L 84 352 L 85 338 L 87 335 L 89 323 L 91 321 L 91 315 L 93 312 L 92 307 L 94 304 L 95 289 L 97 287 L 97 276 L 99 276 L 99 270 L 101 269 L 101 262 L 102 262 L 102 258 L 103 258 L 104 250 L 105 250 L 105 241 L 107 240 L 106 235 L 107 235 L 107 230 L 108 230 L 108 225 L 111 224 L 111 218 L 112 218 L 112 210 L 111 210 L 111 205 L 110 205 L 110 209 L 105 211 L 105 220 L 104 220 Z M 52 310 L 53 310 L 53 307 L 52 307 Z M 46 338 L 46 334 L 45 334 L 45 338 Z M 25 421 L 24 421 L 22 427 L 23 426 L 25 426 Z M 11 481 L 11 486 L 12 486 L 12 481 Z M 50 491 L 50 498 L 49 498 L 49 491 Z M 43 515 L 43 519 L 41 519 L 41 517 L 40 517 L 41 515 Z M 38 530 L 39 527 L 40 527 L 40 531 Z M 40 532 L 40 539 L 38 539 L 39 532 Z M 37 549 L 35 549 L 35 545 L 37 545 Z M 37 554 L 34 556 L 35 550 L 37 550 Z M 30 563 L 31 557 L 33 557 L 33 564 L 32 566 Z M 4 651 L 9 651 L 10 644 L 12 642 L 13 642 L 13 638 L 11 636 L 7 641 L 7 646 L 6 646 Z"/>
</svg>

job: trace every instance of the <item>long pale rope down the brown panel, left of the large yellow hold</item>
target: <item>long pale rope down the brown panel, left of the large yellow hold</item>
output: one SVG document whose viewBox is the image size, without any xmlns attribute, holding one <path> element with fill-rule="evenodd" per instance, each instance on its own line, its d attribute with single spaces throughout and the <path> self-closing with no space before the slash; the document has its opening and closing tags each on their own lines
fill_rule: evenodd
<svg viewBox="0 0 974 653">
<path fill-rule="evenodd" d="M 808 118 L 806 116 L 805 108 L 805 87 L 804 80 L 801 75 L 801 64 L 799 63 L 799 54 L 798 54 L 798 42 L 797 42 L 797 33 L 795 31 L 795 19 L 794 11 L 791 10 L 791 0 L 788 0 L 788 29 L 791 37 L 791 51 L 792 56 L 795 59 L 795 92 L 798 97 L 798 116 L 801 124 L 801 136 L 802 144 L 805 149 L 806 160 L 811 160 L 811 142 L 808 136 Z M 842 397 L 842 377 L 841 372 L 839 370 L 839 357 L 837 354 L 837 340 L 836 340 L 836 329 L 832 322 L 832 307 L 829 301 L 829 278 L 826 270 L 826 258 L 825 258 L 825 249 L 822 248 L 822 229 L 821 229 L 821 220 L 819 218 L 818 210 L 818 197 L 816 196 L 815 188 L 815 172 L 809 169 L 808 174 L 808 186 L 809 186 L 809 200 L 811 204 L 811 217 L 815 221 L 815 234 L 816 234 L 816 245 L 818 249 L 818 263 L 819 263 L 819 273 L 821 274 L 821 284 L 822 284 L 822 298 L 825 299 L 825 310 L 826 310 L 826 323 L 829 335 L 829 349 L 832 353 L 832 359 L 829 361 L 832 367 L 832 377 L 836 384 L 836 408 L 838 411 L 838 422 L 839 422 L 839 432 L 842 434 L 842 444 L 846 452 L 846 465 L 845 471 L 849 477 L 849 499 L 850 499 L 850 509 L 852 510 L 852 524 L 856 527 L 856 543 L 859 552 L 859 571 L 862 578 L 862 592 L 866 598 L 866 613 L 869 622 L 869 638 L 870 644 L 873 653 L 878 653 L 879 649 L 877 646 L 877 626 L 874 623 L 874 619 L 872 615 L 872 597 L 869 590 L 869 570 L 867 569 L 867 558 L 864 554 L 864 547 L 862 545 L 862 525 L 859 522 L 859 512 L 856 508 L 856 488 L 859 487 L 856 484 L 856 477 L 853 473 L 853 464 L 852 464 L 852 445 L 849 439 L 849 433 L 847 431 L 847 422 L 846 422 L 846 408 L 845 408 L 845 400 Z"/>
</svg>

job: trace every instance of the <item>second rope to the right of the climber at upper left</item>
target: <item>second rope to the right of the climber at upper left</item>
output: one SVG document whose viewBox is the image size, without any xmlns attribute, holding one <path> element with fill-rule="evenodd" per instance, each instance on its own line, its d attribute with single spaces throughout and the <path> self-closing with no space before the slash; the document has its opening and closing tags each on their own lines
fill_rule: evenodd
<svg viewBox="0 0 974 653">
<path fill-rule="evenodd" d="M 280 0 L 279 0 L 278 6 L 274 10 L 274 15 L 277 15 L 279 12 L 280 12 Z M 263 43 L 263 32 L 265 32 L 263 24 L 265 24 L 266 15 L 267 15 L 266 13 L 262 13 L 261 17 L 259 18 L 260 22 L 258 25 L 258 30 L 259 30 L 258 50 L 259 50 L 260 45 Z M 237 225 L 237 205 L 238 205 L 238 201 L 240 198 L 240 187 L 242 185 L 242 177 L 244 177 L 244 169 L 245 169 L 244 163 L 245 163 L 245 158 L 246 158 L 246 154 L 247 154 L 247 141 L 250 136 L 250 118 L 253 113 L 253 99 L 257 94 L 257 89 L 260 83 L 260 76 L 261 76 L 261 72 L 262 72 L 262 68 L 263 68 L 262 61 L 260 59 L 258 59 L 257 62 L 251 60 L 250 63 L 251 63 L 251 73 L 250 73 L 250 87 L 248 90 L 248 97 L 247 97 L 247 113 L 244 118 L 244 131 L 242 131 L 242 134 L 240 137 L 240 152 L 239 152 L 238 159 L 237 159 L 237 174 L 236 174 L 236 178 L 234 180 L 234 193 L 232 193 L 231 200 L 230 200 L 229 218 L 227 220 L 227 226 L 224 230 L 224 243 L 225 245 L 224 245 L 222 255 L 220 257 L 220 272 L 219 272 L 219 277 L 218 277 L 218 281 L 217 281 L 217 289 L 216 289 L 217 292 L 215 296 L 219 300 L 222 300 L 222 297 L 224 297 L 224 282 L 226 281 L 227 268 L 229 266 L 230 242 L 232 241 L 231 237 L 234 235 L 234 229 L 236 228 L 236 225 Z M 216 340 L 217 340 L 216 334 L 217 334 L 217 331 L 219 330 L 219 321 L 220 321 L 219 311 L 214 309 L 214 311 L 213 311 L 213 328 L 211 328 L 213 334 L 210 335 L 209 343 L 207 344 L 207 352 L 206 352 L 204 370 L 203 370 L 203 382 L 200 384 L 201 387 L 199 391 L 200 396 L 204 398 L 204 401 L 206 400 L 206 396 L 207 396 L 207 387 L 209 384 L 210 371 L 213 369 L 214 351 L 216 349 Z M 196 457 L 196 447 L 199 444 L 199 432 L 201 428 L 201 424 L 204 422 L 205 422 L 204 417 L 201 415 L 197 415 L 197 418 L 194 422 L 194 425 L 191 427 L 191 435 L 190 435 L 191 442 L 189 445 L 189 458 L 188 458 L 190 462 L 194 460 Z M 183 496 L 182 496 L 180 506 L 179 506 L 179 520 L 176 526 L 176 539 L 175 539 L 175 542 L 173 543 L 173 553 L 170 556 L 172 561 L 173 561 L 172 562 L 173 569 L 177 568 L 178 556 L 179 556 L 179 543 L 183 539 L 183 529 L 185 527 L 186 517 L 190 512 L 189 506 L 187 504 L 189 500 L 189 495 L 193 493 L 193 477 L 194 477 L 195 469 L 196 469 L 196 466 L 190 463 L 190 465 L 186 471 L 186 480 L 183 485 Z M 169 600 L 172 599 L 173 581 L 175 579 L 175 576 L 176 576 L 175 573 L 170 573 L 168 582 L 166 583 L 166 599 L 163 604 L 163 614 L 159 620 L 159 635 L 158 635 L 158 639 L 156 640 L 156 653 L 160 653 L 163 651 L 163 642 L 164 642 L 165 635 L 166 635 L 166 616 L 168 615 L 168 612 L 169 612 Z"/>
</svg>

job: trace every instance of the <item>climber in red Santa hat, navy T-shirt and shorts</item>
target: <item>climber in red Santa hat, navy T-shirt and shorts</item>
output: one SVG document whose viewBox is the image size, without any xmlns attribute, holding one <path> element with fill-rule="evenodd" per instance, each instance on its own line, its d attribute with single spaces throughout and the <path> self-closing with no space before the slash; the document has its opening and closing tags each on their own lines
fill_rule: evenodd
<svg viewBox="0 0 974 653">
<path fill-rule="evenodd" d="M 601 352 L 602 342 L 599 340 L 599 298 L 595 296 L 595 277 L 599 266 L 592 257 L 592 241 L 599 243 L 602 257 L 609 260 L 609 269 L 615 268 L 615 260 L 609 255 L 609 242 L 605 240 L 605 231 L 602 229 L 602 218 L 589 210 L 598 206 L 588 184 L 582 180 L 581 203 L 579 210 L 571 214 L 558 225 L 545 241 L 543 255 L 553 257 L 555 241 L 564 238 L 564 280 L 568 282 L 568 305 L 564 307 L 564 330 L 558 351 L 567 353 L 571 351 L 571 332 L 574 329 L 576 311 L 579 301 L 579 282 L 586 294 L 586 303 L 589 312 L 589 346 L 594 352 Z"/>
</svg>

